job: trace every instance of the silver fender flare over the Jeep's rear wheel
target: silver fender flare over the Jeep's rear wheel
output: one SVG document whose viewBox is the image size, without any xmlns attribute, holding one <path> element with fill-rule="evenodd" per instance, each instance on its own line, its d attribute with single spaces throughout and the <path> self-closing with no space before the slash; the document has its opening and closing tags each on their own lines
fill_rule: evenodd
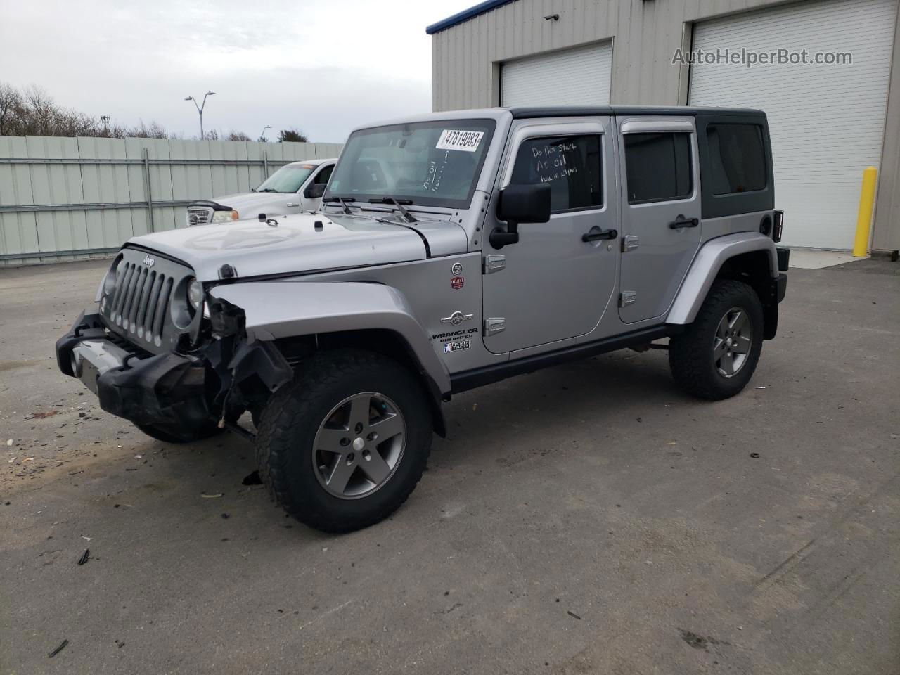
<svg viewBox="0 0 900 675">
<path fill-rule="evenodd" d="M 707 298 L 709 287 L 725 261 L 734 256 L 752 251 L 766 251 L 769 254 L 769 273 L 778 278 L 779 260 L 775 242 L 759 232 L 739 232 L 725 237 L 710 239 L 700 247 L 688 274 L 672 302 L 666 323 L 687 324 L 697 318 L 700 305 Z"/>
</svg>

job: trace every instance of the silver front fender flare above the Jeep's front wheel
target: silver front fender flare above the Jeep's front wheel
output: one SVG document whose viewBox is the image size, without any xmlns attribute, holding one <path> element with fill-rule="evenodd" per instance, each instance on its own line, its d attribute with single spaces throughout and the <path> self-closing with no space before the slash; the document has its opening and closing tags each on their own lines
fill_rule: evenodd
<svg viewBox="0 0 900 675">
<path fill-rule="evenodd" d="M 386 329 L 406 342 L 422 374 L 450 392 L 450 374 L 406 297 L 392 286 L 362 282 L 248 282 L 216 286 L 211 295 L 244 311 L 247 341 L 361 329 Z"/>
</svg>

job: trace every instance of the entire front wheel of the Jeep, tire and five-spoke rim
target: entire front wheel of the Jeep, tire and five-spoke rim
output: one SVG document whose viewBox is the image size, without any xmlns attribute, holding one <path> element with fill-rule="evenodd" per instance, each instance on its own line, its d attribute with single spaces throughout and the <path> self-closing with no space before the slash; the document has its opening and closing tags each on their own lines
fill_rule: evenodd
<svg viewBox="0 0 900 675">
<path fill-rule="evenodd" d="M 431 447 L 419 381 L 374 353 L 325 352 L 263 410 L 259 475 L 285 510 L 324 532 L 368 527 L 416 487 Z"/>
</svg>

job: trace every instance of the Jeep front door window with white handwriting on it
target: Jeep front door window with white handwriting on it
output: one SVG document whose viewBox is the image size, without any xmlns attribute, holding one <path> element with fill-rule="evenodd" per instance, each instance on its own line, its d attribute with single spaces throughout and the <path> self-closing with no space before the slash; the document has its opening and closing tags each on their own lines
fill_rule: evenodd
<svg viewBox="0 0 900 675">
<path fill-rule="evenodd" d="M 527 139 L 518 148 L 511 183 L 549 183 L 551 211 L 603 205 L 599 135 Z"/>
</svg>

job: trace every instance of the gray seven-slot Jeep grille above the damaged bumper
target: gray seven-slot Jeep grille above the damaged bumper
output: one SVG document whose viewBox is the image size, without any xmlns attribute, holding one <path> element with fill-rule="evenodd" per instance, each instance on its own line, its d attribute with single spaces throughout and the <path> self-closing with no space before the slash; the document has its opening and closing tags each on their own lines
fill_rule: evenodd
<svg viewBox="0 0 900 675">
<path fill-rule="evenodd" d="M 199 326 L 191 316 L 185 288 L 192 270 L 174 260 L 136 248 L 123 248 L 103 284 L 100 313 L 106 327 L 155 354 L 175 349 L 184 334 Z M 184 297 L 183 297 L 184 296 Z"/>
</svg>

